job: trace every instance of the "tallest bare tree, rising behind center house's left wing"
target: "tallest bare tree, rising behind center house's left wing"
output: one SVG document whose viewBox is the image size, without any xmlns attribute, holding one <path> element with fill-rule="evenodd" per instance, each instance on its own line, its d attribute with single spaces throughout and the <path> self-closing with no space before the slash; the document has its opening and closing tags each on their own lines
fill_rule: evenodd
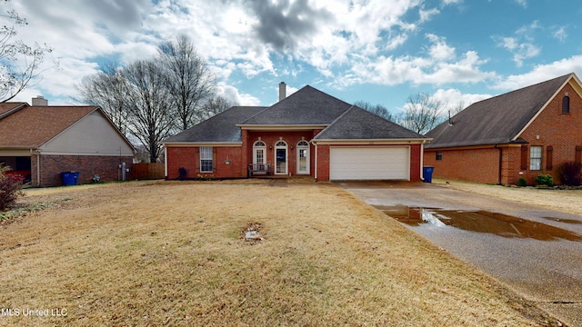
<svg viewBox="0 0 582 327">
<path fill-rule="evenodd" d="M 204 105 L 215 94 L 216 77 L 186 35 L 160 45 L 158 53 L 166 70 L 166 88 L 176 107 L 178 127 L 186 130 L 207 116 Z"/>
</svg>

